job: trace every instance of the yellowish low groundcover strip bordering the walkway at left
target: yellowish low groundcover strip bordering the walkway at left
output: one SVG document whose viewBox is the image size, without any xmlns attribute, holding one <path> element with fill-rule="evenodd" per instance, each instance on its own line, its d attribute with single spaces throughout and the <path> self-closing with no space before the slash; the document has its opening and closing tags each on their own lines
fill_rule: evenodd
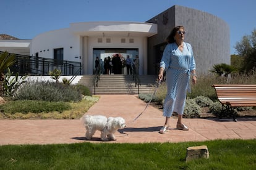
<svg viewBox="0 0 256 170">
<path fill-rule="evenodd" d="M 79 119 L 81 118 L 87 110 L 92 107 L 97 101 L 99 97 L 84 97 L 80 102 L 68 102 L 66 105 L 69 107 L 66 108 L 64 105 L 58 105 L 55 102 L 45 102 L 45 101 L 15 101 L 15 102 L 7 102 L 7 105 L 0 106 L 0 118 L 8 118 L 8 119 Z M 42 104 L 41 102 L 45 103 Z M 15 103 L 15 104 L 14 104 Z M 40 103 L 38 105 L 38 103 Z M 63 104 L 63 102 L 61 102 Z M 46 104 L 48 107 L 46 107 Z M 21 107 L 22 105 L 22 107 Z M 22 111 L 15 112 L 15 110 L 20 110 L 20 108 L 28 109 L 26 113 L 22 113 Z M 42 109 L 51 109 L 55 110 L 56 108 L 60 108 L 57 111 L 41 111 Z M 63 110 L 62 108 L 66 108 Z M 23 111 L 25 109 L 22 109 Z M 41 112 L 32 112 L 33 110 L 40 110 Z"/>
</svg>

